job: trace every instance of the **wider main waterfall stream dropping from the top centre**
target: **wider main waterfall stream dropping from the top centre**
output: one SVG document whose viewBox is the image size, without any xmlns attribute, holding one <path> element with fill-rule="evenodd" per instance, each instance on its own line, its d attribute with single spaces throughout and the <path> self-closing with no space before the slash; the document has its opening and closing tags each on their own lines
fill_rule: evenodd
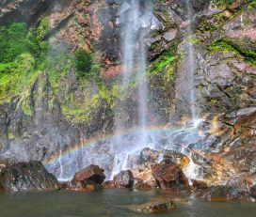
<svg viewBox="0 0 256 217">
<path fill-rule="evenodd" d="M 147 125 L 147 99 L 148 84 L 146 79 L 146 46 L 145 38 L 151 31 L 152 27 L 152 2 L 142 0 L 124 1 L 119 8 L 120 22 L 120 44 L 121 44 L 121 61 L 122 61 L 122 79 L 121 86 L 128 94 L 129 84 L 136 79 L 137 82 L 137 120 L 133 120 L 133 126 L 130 128 L 139 128 L 142 130 L 138 146 L 147 142 L 147 133 L 143 131 Z M 119 110 L 124 110 L 124 104 L 120 102 Z M 123 116 L 117 114 L 116 121 L 117 134 L 120 130 L 125 130 Z M 136 117 L 136 116 L 135 116 Z M 118 141 L 121 143 L 123 138 Z"/>
</svg>

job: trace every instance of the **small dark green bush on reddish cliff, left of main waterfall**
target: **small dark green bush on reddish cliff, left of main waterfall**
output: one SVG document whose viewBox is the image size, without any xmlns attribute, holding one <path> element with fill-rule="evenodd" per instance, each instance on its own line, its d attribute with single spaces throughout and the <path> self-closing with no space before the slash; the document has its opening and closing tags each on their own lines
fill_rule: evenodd
<svg viewBox="0 0 256 217">
<path fill-rule="evenodd" d="M 90 75 L 92 69 L 92 56 L 84 49 L 77 49 L 74 54 L 75 70 L 80 78 L 85 78 Z"/>
</svg>

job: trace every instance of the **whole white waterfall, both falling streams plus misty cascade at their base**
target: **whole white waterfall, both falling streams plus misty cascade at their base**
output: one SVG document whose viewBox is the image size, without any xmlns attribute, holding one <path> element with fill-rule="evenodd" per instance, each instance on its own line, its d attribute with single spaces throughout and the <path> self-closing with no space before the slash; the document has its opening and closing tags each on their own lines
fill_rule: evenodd
<svg viewBox="0 0 256 217">
<path fill-rule="evenodd" d="M 190 3 L 187 3 L 190 11 L 188 17 L 190 23 L 187 30 L 187 40 L 192 34 L 193 13 Z M 120 31 L 120 60 L 122 73 L 118 85 L 120 88 L 120 101 L 115 108 L 115 133 L 110 137 L 95 138 L 95 141 L 88 140 L 83 144 L 62 152 L 58 158 L 47 165 L 47 169 L 58 175 L 58 178 L 72 178 L 73 174 L 88 166 L 97 164 L 104 168 L 106 179 L 112 179 L 123 169 L 132 169 L 133 162 L 139 156 L 141 150 L 150 147 L 159 151 L 173 149 L 187 153 L 191 144 L 200 141 L 197 125 L 194 91 L 194 73 L 196 70 L 194 47 L 189 43 L 187 48 L 186 62 L 189 67 L 184 70 L 184 87 L 189 89 L 185 94 L 191 101 L 191 114 L 194 123 L 186 124 L 181 129 L 171 129 L 169 126 L 153 125 L 148 117 L 148 82 L 147 82 L 147 47 L 146 41 L 152 30 L 159 30 L 159 21 L 152 13 L 152 2 L 146 0 L 123 0 L 117 9 L 117 27 Z M 136 87 L 135 87 L 136 86 Z M 190 91 L 192 89 L 192 91 Z M 132 104 L 127 101 L 133 93 Z M 191 96 L 190 96 L 191 94 Z M 123 97 L 127 96 L 127 97 Z M 134 109 L 134 110 L 133 110 Z M 133 110 L 134 114 L 126 114 L 126 111 Z M 131 119 L 126 119 L 130 117 Z M 98 140 L 99 139 L 99 140 Z M 163 160 L 160 154 L 158 161 Z M 195 164 L 191 161 L 187 169 L 189 176 L 194 177 Z"/>
</svg>

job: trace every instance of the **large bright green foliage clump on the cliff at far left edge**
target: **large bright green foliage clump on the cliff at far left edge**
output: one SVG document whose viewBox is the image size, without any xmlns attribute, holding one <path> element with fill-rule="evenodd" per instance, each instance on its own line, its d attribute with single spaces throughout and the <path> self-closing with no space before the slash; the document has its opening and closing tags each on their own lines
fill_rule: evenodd
<svg viewBox="0 0 256 217">
<path fill-rule="evenodd" d="M 25 23 L 0 27 L 0 101 L 29 95 L 30 85 L 43 69 L 41 42 L 37 29 L 28 30 Z"/>
</svg>

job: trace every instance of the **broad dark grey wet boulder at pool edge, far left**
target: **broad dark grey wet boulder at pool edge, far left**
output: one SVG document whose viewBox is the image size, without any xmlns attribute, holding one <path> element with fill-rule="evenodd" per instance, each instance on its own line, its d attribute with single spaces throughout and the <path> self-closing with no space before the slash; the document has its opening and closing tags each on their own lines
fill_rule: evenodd
<svg viewBox="0 0 256 217">
<path fill-rule="evenodd" d="M 0 185 L 10 192 L 58 189 L 56 177 L 35 161 L 6 165 L 0 173 Z"/>
</svg>

